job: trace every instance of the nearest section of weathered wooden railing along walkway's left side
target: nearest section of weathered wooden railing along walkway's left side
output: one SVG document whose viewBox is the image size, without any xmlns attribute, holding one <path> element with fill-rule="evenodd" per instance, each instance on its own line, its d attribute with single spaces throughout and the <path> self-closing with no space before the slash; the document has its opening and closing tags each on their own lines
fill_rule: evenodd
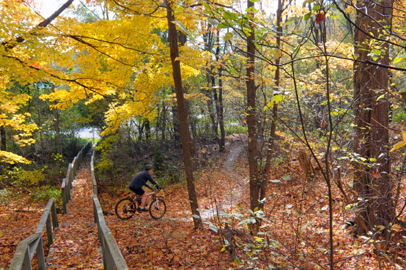
<svg viewBox="0 0 406 270">
<path fill-rule="evenodd" d="M 52 216 L 52 223 L 51 223 Z M 52 228 L 53 225 L 53 228 Z M 28 238 L 22 240 L 17 246 L 17 250 L 12 258 L 9 270 L 31 270 L 31 261 L 36 254 L 38 269 L 45 270 L 45 255 L 43 251 L 42 234 L 44 228 L 47 228 L 47 245 L 53 242 L 52 232 L 58 227 L 58 217 L 56 216 L 55 199 L 50 199 L 43 212 L 41 221 L 36 228 L 36 232 Z"/>
</svg>

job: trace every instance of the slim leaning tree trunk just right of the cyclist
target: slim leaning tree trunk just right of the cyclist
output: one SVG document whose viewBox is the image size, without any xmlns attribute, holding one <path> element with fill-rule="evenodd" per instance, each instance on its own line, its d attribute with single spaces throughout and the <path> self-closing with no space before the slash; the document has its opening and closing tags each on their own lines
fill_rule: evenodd
<svg viewBox="0 0 406 270">
<path fill-rule="evenodd" d="M 167 21 L 168 21 L 168 39 L 171 49 L 171 63 L 173 69 L 173 81 L 175 82 L 176 102 L 178 104 L 178 115 L 180 124 L 180 139 L 182 141 L 182 153 L 184 170 L 186 172 L 186 184 L 189 193 L 189 201 L 193 215 L 193 223 L 196 228 L 202 228 L 202 218 L 200 218 L 199 206 L 195 192 L 195 181 L 193 179 L 193 164 L 191 157 L 191 135 L 189 133 L 189 125 L 186 117 L 186 106 L 184 102 L 182 89 L 182 74 L 180 72 L 180 62 L 176 58 L 179 57 L 178 35 L 176 34 L 175 16 L 172 13 L 171 1 L 167 0 Z"/>
</svg>

